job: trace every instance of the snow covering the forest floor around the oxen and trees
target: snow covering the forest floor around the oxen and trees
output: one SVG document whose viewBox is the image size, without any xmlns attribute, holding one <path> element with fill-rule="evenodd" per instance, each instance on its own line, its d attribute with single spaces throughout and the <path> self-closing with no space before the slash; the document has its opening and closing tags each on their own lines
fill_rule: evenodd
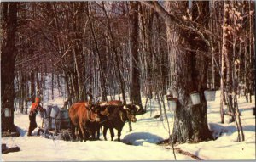
<svg viewBox="0 0 256 162">
<path fill-rule="evenodd" d="M 63 99 L 55 99 L 51 103 L 61 105 Z M 49 103 L 49 102 L 48 102 Z M 145 98 L 143 98 L 143 105 Z M 44 104 L 46 105 L 46 103 Z M 245 133 L 244 142 L 236 142 L 237 131 L 235 123 L 221 124 L 219 115 L 219 92 L 214 102 L 208 102 L 208 124 L 215 137 L 215 141 L 185 143 L 175 146 L 183 151 L 195 154 L 201 159 L 254 159 L 255 160 L 255 116 L 253 103 L 247 103 L 245 98 L 239 98 L 241 110 L 241 124 Z M 167 104 L 166 104 L 167 106 Z M 2 154 L 2 161 L 73 161 L 73 160 L 174 160 L 172 149 L 169 146 L 160 146 L 155 143 L 168 138 L 166 121 L 155 119 L 159 115 L 157 102 L 152 103 L 152 112 L 137 115 L 137 123 L 132 123 L 133 131 L 129 132 L 126 123 L 122 131 L 121 141 L 117 136 L 110 141 L 65 142 L 46 139 L 44 137 L 27 137 L 29 125 L 28 115 L 15 112 L 15 125 L 19 127 L 20 137 L 3 137 L 2 143 L 8 147 L 19 146 L 21 151 Z M 168 110 L 168 108 L 167 108 Z M 173 115 L 167 111 L 170 129 L 172 131 Z M 228 120 L 228 116 L 225 116 Z M 40 116 L 37 116 L 38 126 L 41 125 Z M 35 135 L 37 129 L 33 131 Z M 117 131 L 115 131 L 117 135 Z M 129 143 L 125 144 L 125 143 Z M 176 154 L 177 160 L 194 160 L 188 155 Z"/>
</svg>

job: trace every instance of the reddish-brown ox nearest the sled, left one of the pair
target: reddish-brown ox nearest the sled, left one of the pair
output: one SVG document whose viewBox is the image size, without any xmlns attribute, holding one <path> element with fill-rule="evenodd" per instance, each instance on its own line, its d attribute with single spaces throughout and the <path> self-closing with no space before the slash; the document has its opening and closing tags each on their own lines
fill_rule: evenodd
<svg viewBox="0 0 256 162">
<path fill-rule="evenodd" d="M 90 131 L 90 125 L 100 121 L 96 110 L 94 110 L 87 102 L 73 103 L 68 114 L 71 120 L 72 135 L 75 137 L 75 127 L 79 127 L 79 136 L 81 142 L 83 140 L 87 140 L 87 133 Z"/>
</svg>

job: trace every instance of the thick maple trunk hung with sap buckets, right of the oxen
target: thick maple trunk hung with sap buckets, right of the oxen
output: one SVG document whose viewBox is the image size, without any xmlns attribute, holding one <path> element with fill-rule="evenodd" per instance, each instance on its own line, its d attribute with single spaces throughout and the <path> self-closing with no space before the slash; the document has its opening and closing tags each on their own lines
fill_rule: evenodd
<svg viewBox="0 0 256 162">
<path fill-rule="evenodd" d="M 184 2 L 179 2 L 182 6 Z M 207 28 L 209 2 L 193 2 L 192 20 L 196 19 Z M 184 8 L 180 8 L 184 9 Z M 177 98 L 172 131 L 173 143 L 201 142 L 212 139 L 207 124 L 207 102 L 204 90 L 207 88 L 208 46 L 205 40 L 191 31 L 178 30 L 177 46 L 181 47 L 174 57 L 175 80 L 172 95 Z M 169 33 L 170 36 L 170 33 Z M 192 49 L 187 50 L 186 49 Z M 191 92 L 200 92 L 201 103 L 193 105 Z"/>
</svg>

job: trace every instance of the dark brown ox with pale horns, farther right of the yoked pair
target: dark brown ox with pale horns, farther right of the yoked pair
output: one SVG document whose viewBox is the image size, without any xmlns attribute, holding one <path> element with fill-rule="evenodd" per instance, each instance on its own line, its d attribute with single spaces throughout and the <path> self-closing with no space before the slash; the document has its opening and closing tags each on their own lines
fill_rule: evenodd
<svg viewBox="0 0 256 162">
<path fill-rule="evenodd" d="M 103 136 L 104 139 L 107 140 L 106 134 L 108 129 L 110 130 L 111 134 L 111 141 L 113 141 L 114 132 L 113 128 L 118 131 L 118 141 L 120 141 L 121 131 L 125 126 L 126 121 L 136 122 L 137 119 L 135 117 L 137 113 L 137 106 L 128 104 L 126 106 L 123 105 L 109 105 L 108 109 L 108 116 L 105 119 L 102 119 L 103 128 Z"/>
</svg>

